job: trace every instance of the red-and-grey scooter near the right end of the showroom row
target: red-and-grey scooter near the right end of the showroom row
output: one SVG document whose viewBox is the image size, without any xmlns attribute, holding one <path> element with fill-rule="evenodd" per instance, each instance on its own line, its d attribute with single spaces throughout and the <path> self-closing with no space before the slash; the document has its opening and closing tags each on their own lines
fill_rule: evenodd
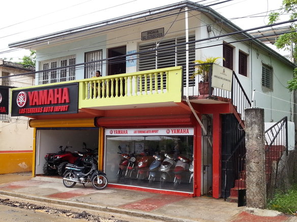
<svg viewBox="0 0 297 222">
<path fill-rule="evenodd" d="M 189 173 L 189 168 L 190 168 L 190 159 L 179 155 L 177 157 L 177 162 L 175 164 L 173 173 L 174 173 L 174 184 L 173 184 L 173 188 L 177 188 L 179 186 L 179 184 L 181 183 L 183 177 L 185 177 L 187 175 L 187 173 Z"/>
</svg>

